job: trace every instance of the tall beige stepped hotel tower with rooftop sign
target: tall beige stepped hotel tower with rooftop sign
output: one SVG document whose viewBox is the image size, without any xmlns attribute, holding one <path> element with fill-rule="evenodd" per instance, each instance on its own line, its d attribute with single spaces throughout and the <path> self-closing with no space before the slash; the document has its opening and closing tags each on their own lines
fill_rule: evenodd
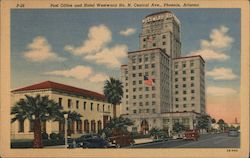
<svg viewBox="0 0 250 158">
<path fill-rule="evenodd" d="M 181 57 L 180 22 L 170 11 L 146 16 L 139 38 L 140 49 L 128 52 L 128 64 L 121 66 L 121 113 L 135 122 L 131 130 L 170 134 L 176 122 L 195 128 L 196 117 L 206 113 L 204 60 Z"/>
</svg>

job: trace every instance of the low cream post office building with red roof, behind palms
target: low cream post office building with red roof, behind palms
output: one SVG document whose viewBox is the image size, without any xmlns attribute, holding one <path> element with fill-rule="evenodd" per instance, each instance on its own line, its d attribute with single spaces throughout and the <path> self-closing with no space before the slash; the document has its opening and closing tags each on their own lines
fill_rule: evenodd
<svg viewBox="0 0 250 158">
<path fill-rule="evenodd" d="M 72 137 L 78 137 L 84 133 L 98 133 L 101 131 L 111 116 L 112 105 L 107 103 L 102 94 L 80 89 L 60 83 L 45 81 L 11 92 L 11 104 L 15 105 L 25 95 L 49 96 L 63 111 L 75 111 L 81 114 L 80 121 L 74 121 L 68 127 L 68 133 Z M 50 133 L 64 133 L 64 123 L 58 121 L 42 122 L 42 131 Z M 16 121 L 11 124 L 11 139 L 33 139 L 33 123 L 29 120 Z"/>
</svg>

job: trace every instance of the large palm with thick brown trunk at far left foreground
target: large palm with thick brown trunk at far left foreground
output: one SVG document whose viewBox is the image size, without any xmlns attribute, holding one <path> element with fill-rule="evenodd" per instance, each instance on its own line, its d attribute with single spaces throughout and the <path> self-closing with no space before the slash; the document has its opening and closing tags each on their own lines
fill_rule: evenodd
<svg viewBox="0 0 250 158">
<path fill-rule="evenodd" d="M 62 109 L 54 100 L 50 100 L 49 96 L 35 97 L 25 95 L 25 99 L 20 99 L 11 108 L 11 115 L 14 115 L 11 122 L 24 121 L 26 119 L 34 121 L 34 148 L 42 148 L 41 139 L 41 122 L 46 120 L 55 120 L 61 117 Z"/>
</svg>

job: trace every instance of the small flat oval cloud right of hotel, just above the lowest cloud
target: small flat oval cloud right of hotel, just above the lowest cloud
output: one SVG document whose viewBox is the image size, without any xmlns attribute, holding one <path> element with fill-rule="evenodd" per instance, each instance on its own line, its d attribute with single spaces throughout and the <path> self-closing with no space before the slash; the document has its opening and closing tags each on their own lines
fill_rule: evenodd
<svg viewBox="0 0 250 158">
<path fill-rule="evenodd" d="M 214 68 L 212 71 L 206 72 L 206 75 L 212 77 L 214 80 L 233 80 L 237 78 L 232 69 L 223 67 Z"/>
</svg>

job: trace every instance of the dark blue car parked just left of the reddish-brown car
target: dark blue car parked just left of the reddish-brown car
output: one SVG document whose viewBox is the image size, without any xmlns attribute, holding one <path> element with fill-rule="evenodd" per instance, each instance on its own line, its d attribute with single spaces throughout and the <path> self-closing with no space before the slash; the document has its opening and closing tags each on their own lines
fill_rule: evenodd
<svg viewBox="0 0 250 158">
<path fill-rule="evenodd" d="M 110 144 L 103 138 L 89 138 L 83 142 L 83 148 L 115 148 L 114 145 Z"/>
</svg>

